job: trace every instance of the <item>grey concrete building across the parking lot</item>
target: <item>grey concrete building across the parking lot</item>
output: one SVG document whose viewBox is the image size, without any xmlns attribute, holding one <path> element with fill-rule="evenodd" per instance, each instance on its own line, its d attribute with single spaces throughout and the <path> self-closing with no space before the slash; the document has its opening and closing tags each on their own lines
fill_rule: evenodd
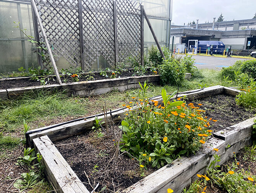
<svg viewBox="0 0 256 193">
<path fill-rule="evenodd" d="M 171 25 L 171 36 L 173 44 L 187 44 L 190 39 L 198 39 L 222 41 L 226 46 L 232 45 L 232 49 L 252 49 L 256 47 L 256 19 Z M 250 46 L 247 46 L 248 41 L 251 41 Z"/>
</svg>

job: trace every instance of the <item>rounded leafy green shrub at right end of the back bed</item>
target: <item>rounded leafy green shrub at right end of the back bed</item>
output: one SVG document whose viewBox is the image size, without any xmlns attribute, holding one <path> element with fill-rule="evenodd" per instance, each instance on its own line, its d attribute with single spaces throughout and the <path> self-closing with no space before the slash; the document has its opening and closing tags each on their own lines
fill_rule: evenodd
<svg viewBox="0 0 256 193">
<path fill-rule="evenodd" d="M 158 69 L 162 85 L 181 85 L 185 78 L 186 68 L 183 63 L 179 63 L 176 59 L 164 60 Z"/>
</svg>

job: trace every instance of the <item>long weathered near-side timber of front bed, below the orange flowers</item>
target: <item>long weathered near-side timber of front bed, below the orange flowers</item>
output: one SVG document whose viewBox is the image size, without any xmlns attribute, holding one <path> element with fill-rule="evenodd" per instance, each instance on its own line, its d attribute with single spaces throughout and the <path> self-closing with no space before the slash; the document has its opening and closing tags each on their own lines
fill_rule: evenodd
<svg viewBox="0 0 256 193">
<path fill-rule="evenodd" d="M 179 192 L 188 185 L 189 180 L 191 182 L 192 176 L 209 165 L 208 157 L 214 153 L 213 148 L 223 149 L 224 144 L 225 142 L 220 139 L 210 139 L 194 156 L 176 159 L 172 164 L 160 168 L 130 186 L 123 193 L 164 193 L 168 188 Z"/>
</svg>

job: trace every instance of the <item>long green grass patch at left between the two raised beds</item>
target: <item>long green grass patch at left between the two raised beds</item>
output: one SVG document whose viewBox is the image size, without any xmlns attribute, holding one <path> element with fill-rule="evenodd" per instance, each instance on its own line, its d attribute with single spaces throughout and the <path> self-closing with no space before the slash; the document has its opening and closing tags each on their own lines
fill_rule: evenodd
<svg viewBox="0 0 256 193">
<path fill-rule="evenodd" d="M 60 115 L 84 115 L 85 105 L 77 103 L 61 92 L 34 91 L 25 93 L 15 100 L 0 101 L 0 122 L 2 129 L 14 129 L 38 117 Z"/>
</svg>

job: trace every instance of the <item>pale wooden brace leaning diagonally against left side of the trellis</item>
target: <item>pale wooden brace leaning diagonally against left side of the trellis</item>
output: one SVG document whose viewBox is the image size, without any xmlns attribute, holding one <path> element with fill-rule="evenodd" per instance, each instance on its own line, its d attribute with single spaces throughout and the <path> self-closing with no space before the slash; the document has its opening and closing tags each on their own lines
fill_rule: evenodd
<svg viewBox="0 0 256 193">
<path fill-rule="evenodd" d="M 56 75 L 56 78 L 57 78 L 57 81 L 58 83 L 61 85 L 61 78 L 60 78 L 60 75 L 59 75 L 59 72 L 58 72 L 58 69 L 57 69 L 57 66 L 55 64 L 55 61 L 54 61 L 54 57 L 52 55 L 52 50 L 51 50 L 51 47 L 49 45 L 49 42 L 47 40 L 47 36 L 45 34 L 45 30 L 43 29 L 43 24 L 42 24 L 42 21 L 40 19 L 40 15 L 38 14 L 38 10 L 37 10 L 37 7 L 36 7 L 36 3 L 35 3 L 35 0 L 31 0 L 31 5 L 33 6 L 34 10 L 35 10 L 35 14 L 36 14 L 36 17 L 38 19 L 38 22 L 39 22 L 39 25 L 41 27 L 41 30 L 42 30 L 42 33 L 43 33 L 43 37 L 45 39 L 45 44 L 46 44 L 46 47 L 47 47 L 47 50 L 48 50 L 48 53 L 50 55 L 50 59 L 51 59 L 51 62 L 52 62 L 52 66 L 54 68 L 54 72 L 55 72 L 55 75 Z"/>
</svg>

